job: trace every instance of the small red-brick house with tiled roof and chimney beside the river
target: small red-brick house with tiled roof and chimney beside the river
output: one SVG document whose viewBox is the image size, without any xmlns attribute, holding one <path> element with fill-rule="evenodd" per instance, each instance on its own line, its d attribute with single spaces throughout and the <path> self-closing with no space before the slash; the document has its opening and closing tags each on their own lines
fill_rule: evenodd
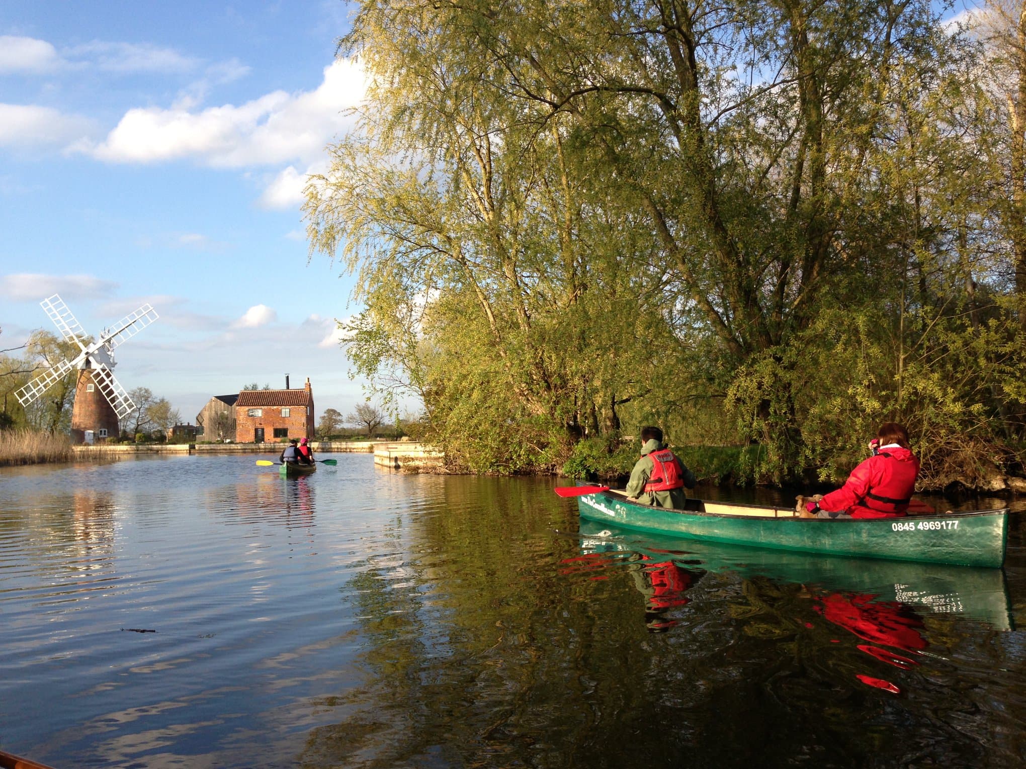
<svg viewBox="0 0 1026 769">
<path fill-rule="evenodd" d="M 303 390 L 243 390 L 235 402 L 237 443 L 313 438 L 314 396 L 310 377 Z"/>
</svg>

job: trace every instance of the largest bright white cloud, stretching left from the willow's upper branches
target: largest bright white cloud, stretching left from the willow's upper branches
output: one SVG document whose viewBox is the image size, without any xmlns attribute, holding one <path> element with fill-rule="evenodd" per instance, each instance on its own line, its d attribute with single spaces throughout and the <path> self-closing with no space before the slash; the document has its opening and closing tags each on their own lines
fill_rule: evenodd
<svg viewBox="0 0 1026 769">
<path fill-rule="evenodd" d="M 364 83 L 358 64 L 339 59 L 324 68 L 324 80 L 313 91 L 273 91 L 238 107 L 200 112 L 191 111 L 188 103 L 135 108 L 92 148 L 92 155 L 117 163 L 191 158 L 232 168 L 312 163 L 348 125 L 340 112 L 363 97 Z"/>
</svg>

